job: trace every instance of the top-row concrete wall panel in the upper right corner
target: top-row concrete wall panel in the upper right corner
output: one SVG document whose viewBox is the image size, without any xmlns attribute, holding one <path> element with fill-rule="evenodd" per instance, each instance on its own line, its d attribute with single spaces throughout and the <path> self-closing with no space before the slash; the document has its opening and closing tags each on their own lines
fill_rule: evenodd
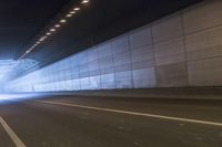
<svg viewBox="0 0 222 147">
<path fill-rule="evenodd" d="M 184 33 L 190 34 L 222 24 L 222 1 L 206 0 L 184 10 Z"/>
</svg>

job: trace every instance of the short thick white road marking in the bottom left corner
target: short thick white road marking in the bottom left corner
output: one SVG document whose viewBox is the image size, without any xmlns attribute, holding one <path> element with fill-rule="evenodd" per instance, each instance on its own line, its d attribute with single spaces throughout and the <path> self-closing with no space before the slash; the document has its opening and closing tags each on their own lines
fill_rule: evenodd
<svg viewBox="0 0 222 147">
<path fill-rule="evenodd" d="M 26 145 L 21 141 L 21 139 L 16 135 L 16 133 L 9 127 L 9 125 L 6 123 L 6 120 L 0 116 L 0 124 L 9 135 L 9 137 L 12 139 L 14 145 L 17 147 L 26 147 Z"/>
</svg>

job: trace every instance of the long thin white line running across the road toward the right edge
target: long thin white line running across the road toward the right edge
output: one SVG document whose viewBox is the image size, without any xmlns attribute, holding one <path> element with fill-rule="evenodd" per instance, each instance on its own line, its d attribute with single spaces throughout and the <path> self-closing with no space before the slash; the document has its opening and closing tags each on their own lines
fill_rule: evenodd
<svg viewBox="0 0 222 147">
<path fill-rule="evenodd" d="M 80 107 L 80 108 L 103 111 L 103 112 L 110 112 L 110 113 L 129 114 L 129 115 L 137 115 L 137 116 L 144 116 L 144 117 L 152 117 L 152 118 L 161 118 L 161 119 L 169 119 L 169 120 L 179 120 L 179 122 L 195 123 L 195 124 L 202 124 L 202 125 L 211 125 L 211 126 L 220 126 L 220 127 L 222 127 L 222 123 L 208 122 L 208 120 L 201 120 L 201 119 L 190 119 L 190 118 L 172 117 L 172 116 L 155 115 L 155 114 L 145 114 L 145 113 L 127 112 L 127 111 L 120 111 L 120 109 L 101 108 L 101 107 L 94 107 L 94 106 L 85 106 L 85 105 L 77 105 L 77 104 L 67 104 L 67 103 L 50 102 L 50 101 L 34 101 L 34 102 L 46 103 L 46 104 L 52 104 L 52 105 Z"/>
</svg>

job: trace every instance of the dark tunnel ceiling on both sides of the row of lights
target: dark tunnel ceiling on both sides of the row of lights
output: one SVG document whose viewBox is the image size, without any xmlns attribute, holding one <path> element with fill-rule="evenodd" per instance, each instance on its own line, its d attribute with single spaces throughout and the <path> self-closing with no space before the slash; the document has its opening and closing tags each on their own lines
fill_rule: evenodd
<svg viewBox="0 0 222 147">
<path fill-rule="evenodd" d="M 0 60 L 18 59 L 53 19 L 80 0 L 1 0 Z M 41 66 L 152 22 L 201 0 L 90 0 L 80 13 L 26 57 Z M 65 7 L 64 7 L 65 6 Z"/>
</svg>

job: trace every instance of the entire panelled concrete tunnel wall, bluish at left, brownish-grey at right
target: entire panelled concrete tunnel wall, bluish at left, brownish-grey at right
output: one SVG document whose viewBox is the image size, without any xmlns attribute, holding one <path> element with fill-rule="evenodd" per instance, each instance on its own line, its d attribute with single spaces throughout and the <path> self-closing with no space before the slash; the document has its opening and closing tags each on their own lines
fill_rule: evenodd
<svg viewBox="0 0 222 147">
<path fill-rule="evenodd" d="M 8 91 L 222 85 L 222 1 L 209 0 L 9 82 Z"/>
</svg>

